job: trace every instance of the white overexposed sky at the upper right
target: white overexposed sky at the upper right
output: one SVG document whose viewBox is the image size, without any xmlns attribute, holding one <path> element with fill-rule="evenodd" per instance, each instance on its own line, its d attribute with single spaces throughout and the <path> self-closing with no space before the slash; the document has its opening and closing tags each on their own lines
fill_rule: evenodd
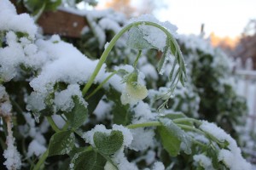
<svg viewBox="0 0 256 170">
<path fill-rule="evenodd" d="M 235 38 L 241 35 L 250 19 L 256 19 L 256 0 L 161 0 L 160 2 L 166 3 L 167 6 L 156 11 L 155 16 L 161 21 L 169 20 L 177 26 L 177 32 L 181 34 L 199 34 L 201 24 L 204 24 L 206 36 L 214 32 L 218 37 Z"/>
</svg>

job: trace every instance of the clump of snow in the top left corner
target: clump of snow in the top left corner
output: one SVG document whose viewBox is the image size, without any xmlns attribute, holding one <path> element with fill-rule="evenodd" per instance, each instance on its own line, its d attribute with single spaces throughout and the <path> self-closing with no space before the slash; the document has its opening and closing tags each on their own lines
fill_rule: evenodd
<svg viewBox="0 0 256 170">
<path fill-rule="evenodd" d="M 26 32 L 30 38 L 34 38 L 37 26 L 29 14 L 16 14 L 15 6 L 8 0 L 0 1 L 0 31 Z"/>
</svg>

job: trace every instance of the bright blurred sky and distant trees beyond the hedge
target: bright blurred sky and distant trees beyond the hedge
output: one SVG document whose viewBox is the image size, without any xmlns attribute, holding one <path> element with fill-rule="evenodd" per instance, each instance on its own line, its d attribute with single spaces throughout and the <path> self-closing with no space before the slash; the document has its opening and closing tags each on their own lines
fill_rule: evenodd
<svg viewBox="0 0 256 170">
<path fill-rule="evenodd" d="M 85 8 L 83 3 L 80 8 Z M 99 0 L 96 9 L 113 8 L 128 18 L 154 14 L 178 27 L 179 34 L 201 34 L 223 48 L 239 67 L 256 68 L 256 1 L 254 0 Z"/>
</svg>

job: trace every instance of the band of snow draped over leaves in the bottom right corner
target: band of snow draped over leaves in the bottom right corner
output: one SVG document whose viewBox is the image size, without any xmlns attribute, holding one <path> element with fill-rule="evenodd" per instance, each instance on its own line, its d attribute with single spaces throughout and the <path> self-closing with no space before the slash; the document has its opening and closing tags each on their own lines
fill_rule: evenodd
<svg viewBox="0 0 256 170">
<path fill-rule="evenodd" d="M 220 142 L 227 141 L 229 143 L 227 146 L 229 150 L 221 149 L 218 152 L 218 161 L 224 161 L 224 164 L 231 170 L 252 169 L 251 164 L 241 156 L 241 150 L 237 147 L 236 141 L 230 137 L 230 134 L 225 133 L 223 129 L 217 127 L 214 123 L 206 121 L 202 121 L 200 128 L 210 133 Z"/>
</svg>

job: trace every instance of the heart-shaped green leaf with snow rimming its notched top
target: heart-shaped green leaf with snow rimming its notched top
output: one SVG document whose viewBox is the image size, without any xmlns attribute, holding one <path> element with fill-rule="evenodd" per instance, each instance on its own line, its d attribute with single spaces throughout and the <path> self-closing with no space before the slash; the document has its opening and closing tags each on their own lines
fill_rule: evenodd
<svg viewBox="0 0 256 170">
<path fill-rule="evenodd" d="M 104 155 L 112 155 L 122 146 L 124 142 L 123 133 L 113 130 L 110 135 L 96 132 L 93 135 L 96 148 Z"/>
</svg>

